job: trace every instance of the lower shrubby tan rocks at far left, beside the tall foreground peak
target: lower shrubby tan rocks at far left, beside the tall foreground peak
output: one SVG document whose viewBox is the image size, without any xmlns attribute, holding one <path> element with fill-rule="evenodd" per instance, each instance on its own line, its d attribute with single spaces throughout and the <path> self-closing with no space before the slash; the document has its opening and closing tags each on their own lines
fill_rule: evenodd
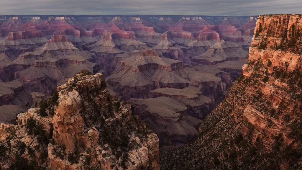
<svg viewBox="0 0 302 170">
<path fill-rule="evenodd" d="M 52 136 L 53 120 L 38 113 L 39 109 L 30 109 L 18 114 L 16 126 L 1 123 L 0 143 L 4 149 L 0 156 L 2 169 L 46 168 L 47 144 L 49 136 Z"/>
</svg>

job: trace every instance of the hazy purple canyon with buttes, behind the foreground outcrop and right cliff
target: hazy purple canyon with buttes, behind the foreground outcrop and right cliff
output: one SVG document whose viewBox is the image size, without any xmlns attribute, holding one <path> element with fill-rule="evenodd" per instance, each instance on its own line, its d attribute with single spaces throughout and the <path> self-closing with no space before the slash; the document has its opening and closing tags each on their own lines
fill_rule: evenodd
<svg viewBox="0 0 302 170">
<path fill-rule="evenodd" d="M 85 70 L 103 74 L 111 94 L 161 129 L 155 130 L 165 141 L 160 148 L 184 145 L 241 74 L 257 18 L 0 16 L 0 106 L 12 108 L 0 121 L 14 121 L 20 107 L 39 108 L 57 86 Z M 140 99 L 166 101 L 159 110 L 169 102 L 185 106 L 170 119 L 147 114 L 155 105 Z M 184 133 L 167 129 L 171 123 Z"/>
</svg>

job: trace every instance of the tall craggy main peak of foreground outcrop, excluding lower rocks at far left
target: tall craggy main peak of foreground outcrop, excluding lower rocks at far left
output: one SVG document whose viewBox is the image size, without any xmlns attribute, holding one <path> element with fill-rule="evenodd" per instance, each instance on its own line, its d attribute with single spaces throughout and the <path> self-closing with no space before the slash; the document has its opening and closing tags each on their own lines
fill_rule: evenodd
<svg viewBox="0 0 302 170">
<path fill-rule="evenodd" d="M 72 87 L 73 83 L 76 84 L 75 87 Z M 76 91 L 76 88 L 79 91 Z M 53 139 L 56 145 L 48 146 L 50 167 L 76 169 L 87 166 L 81 161 L 72 165 L 56 158 L 53 150 L 59 145 L 65 145 L 66 150 L 72 154 L 80 152 L 91 156 L 90 166 L 109 169 L 121 167 L 137 169 L 141 166 L 159 169 L 157 136 L 137 135 L 138 130 L 144 128 L 144 125 L 135 122 L 129 104 L 118 105 L 119 101 L 109 95 L 104 89 L 104 78 L 101 74 L 69 79 L 67 84 L 59 86 L 57 90 L 59 104 L 55 107 L 53 117 Z M 85 90 L 95 91 L 95 94 L 89 94 Z M 88 98 L 91 97 L 94 104 L 88 103 Z M 117 142 L 121 142 L 122 145 Z M 130 142 L 134 142 L 133 145 L 130 145 Z M 119 157 L 121 159 L 118 159 Z M 80 156 L 79 160 L 84 158 L 84 155 Z"/>
</svg>

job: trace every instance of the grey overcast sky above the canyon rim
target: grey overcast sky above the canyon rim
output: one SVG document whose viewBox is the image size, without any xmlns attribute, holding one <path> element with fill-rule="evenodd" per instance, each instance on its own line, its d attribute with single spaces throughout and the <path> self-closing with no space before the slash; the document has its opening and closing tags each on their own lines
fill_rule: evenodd
<svg viewBox="0 0 302 170">
<path fill-rule="evenodd" d="M 216 15 L 302 13 L 302 0 L 0 0 L 0 15 Z"/>
</svg>

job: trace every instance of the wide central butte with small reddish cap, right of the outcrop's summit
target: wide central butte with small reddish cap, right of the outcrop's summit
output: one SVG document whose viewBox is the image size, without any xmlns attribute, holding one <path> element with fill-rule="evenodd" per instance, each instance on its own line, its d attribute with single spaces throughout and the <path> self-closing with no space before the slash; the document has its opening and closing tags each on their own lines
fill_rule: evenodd
<svg viewBox="0 0 302 170">
<path fill-rule="evenodd" d="M 182 62 L 160 58 L 156 51 L 144 50 L 139 55 L 120 60 L 113 74 L 107 77 L 106 81 L 126 100 L 148 98 L 155 88 L 186 87 L 189 80 L 183 74 L 184 71 Z M 132 92 L 129 93 L 130 91 Z"/>
</svg>

